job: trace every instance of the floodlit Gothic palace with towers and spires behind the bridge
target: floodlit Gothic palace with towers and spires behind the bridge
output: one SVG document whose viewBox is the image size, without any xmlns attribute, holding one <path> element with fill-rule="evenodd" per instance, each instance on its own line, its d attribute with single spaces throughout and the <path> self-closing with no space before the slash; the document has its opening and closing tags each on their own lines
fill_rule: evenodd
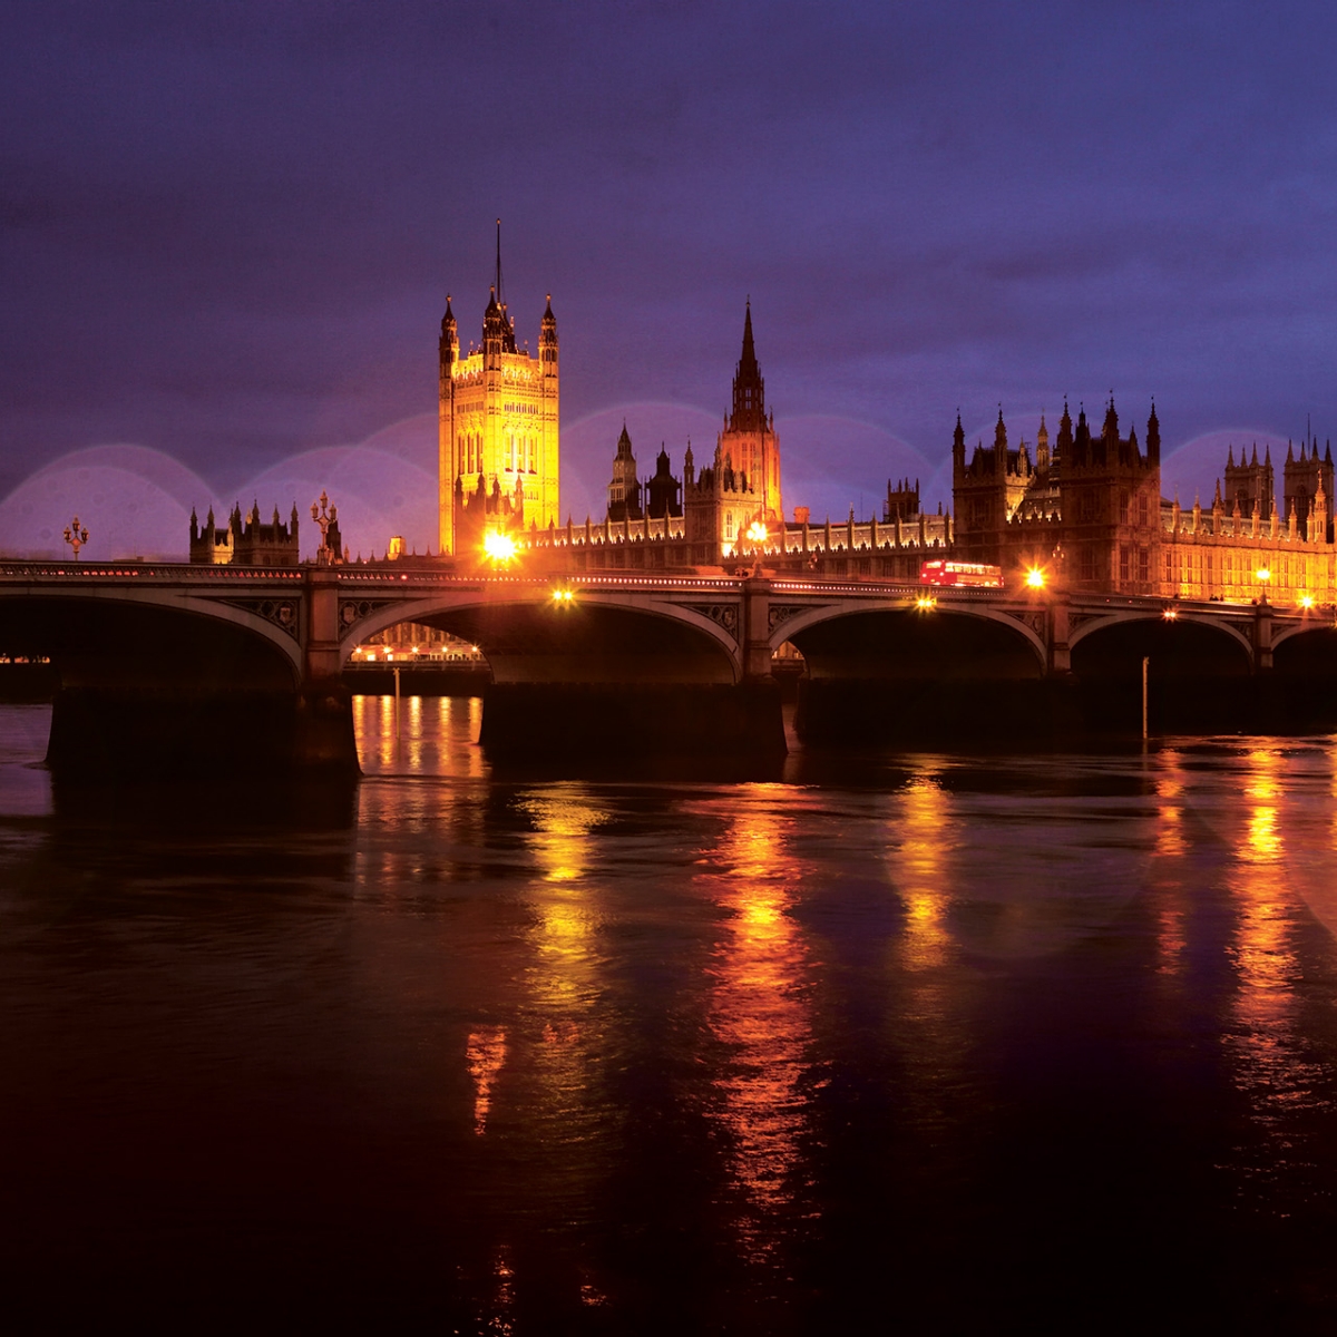
<svg viewBox="0 0 1337 1337">
<path fill-rule="evenodd" d="M 1058 432 L 1040 417 L 1034 449 L 1009 441 L 999 412 L 993 440 L 967 448 L 957 414 L 952 439 L 952 512 L 925 512 L 919 483 L 888 483 L 881 519 L 829 517 L 806 507 L 785 517 L 779 437 L 753 340 L 750 303 L 734 369 L 733 405 L 714 453 L 698 465 L 689 441 L 681 475 L 667 449 L 654 472 L 638 473 L 623 425 L 614 447 L 602 520 L 563 524 L 559 513 L 558 322 L 551 297 L 537 356 L 516 342 L 496 285 L 483 314 L 481 342 L 461 354 L 447 299 L 440 340 L 439 556 L 476 564 L 488 533 L 503 532 L 521 560 L 556 571 L 690 571 L 761 567 L 769 574 L 881 578 L 917 583 L 925 560 L 996 566 L 1005 584 L 1044 572 L 1055 590 L 1273 603 L 1337 602 L 1333 460 L 1306 433 L 1288 447 L 1281 488 L 1270 451 L 1258 459 L 1231 448 L 1210 507 L 1161 495 L 1161 428 L 1152 405 L 1146 435 L 1120 427 L 1114 400 L 1096 428 L 1064 405 Z M 193 562 L 269 560 L 295 564 L 290 525 L 245 520 L 207 541 L 193 531 Z M 194 521 L 193 521 L 194 524 Z M 402 551 L 402 540 L 397 540 Z M 273 550 L 273 551 L 271 551 Z M 282 550 L 282 551 L 279 551 Z M 322 560 L 346 560 L 322 545 Z M 394 547 L 390 548 L 392 559 Z M 251 558 L 254 560 L 254 558 Z M 404 560 L 398 558 L 398 560 Z"/>
</svg>

